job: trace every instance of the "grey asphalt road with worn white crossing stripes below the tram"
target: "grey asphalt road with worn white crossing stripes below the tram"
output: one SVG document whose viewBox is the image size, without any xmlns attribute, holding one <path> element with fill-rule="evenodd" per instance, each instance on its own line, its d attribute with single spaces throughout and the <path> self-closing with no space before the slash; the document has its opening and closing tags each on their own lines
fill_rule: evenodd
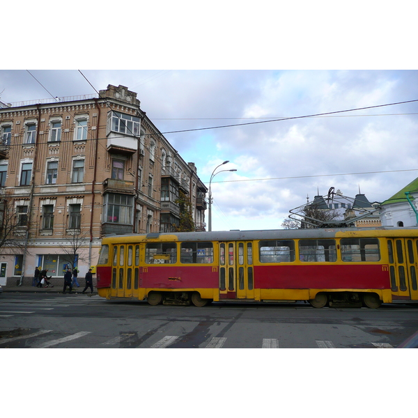
<svg viewBox="0 0 418 418">
<path fill-rule="evenodd" d="M 0 348 L 396 348 L 418 330 L 418 304 L 156 307 L 98 295 L 0 296 Z"/>
</svg>

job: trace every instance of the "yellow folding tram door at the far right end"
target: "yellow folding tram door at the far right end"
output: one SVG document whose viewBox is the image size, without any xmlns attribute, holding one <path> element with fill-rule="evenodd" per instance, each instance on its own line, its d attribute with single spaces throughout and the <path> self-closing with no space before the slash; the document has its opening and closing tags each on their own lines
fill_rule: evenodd
<svg viewBox="0 0 418 418">
<path fill-rule="evenodd" d="M 394 238 L 387 240 L 387 246 L 394 299 L 418 300 L 418 240 Z"/>
</svg>

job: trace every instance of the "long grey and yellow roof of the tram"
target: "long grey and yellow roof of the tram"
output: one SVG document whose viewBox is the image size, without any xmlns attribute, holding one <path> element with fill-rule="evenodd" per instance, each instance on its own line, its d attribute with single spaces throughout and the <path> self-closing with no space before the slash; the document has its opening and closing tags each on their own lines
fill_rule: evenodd
<svg viewBox="0 0 418 418">
<path fill-rule="evenodd" d="M 162 241 L 251 241 L 251 240 L 291 240 L 303 238 L 336 237 L 418 237 L 418 228 L 317 228 L 317 229 L 268 229 L 256 231 L 211 231 L 211 232 L 167 232 L 148 234 L 107 235 L 113 242 Z"/>
</svg>

